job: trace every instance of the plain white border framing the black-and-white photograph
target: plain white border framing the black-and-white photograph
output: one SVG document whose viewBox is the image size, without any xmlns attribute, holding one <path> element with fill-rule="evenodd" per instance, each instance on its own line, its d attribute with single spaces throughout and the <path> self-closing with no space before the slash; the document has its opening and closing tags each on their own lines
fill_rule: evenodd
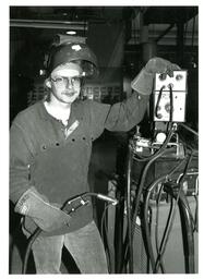
<svg viewBox="0 0 204 279">
<path fill-rule="evenodd" d="M 1 146 L 1 166 L 0 166 L 0 171 L 1 171 L 1 198 L 0 198 L 0 213 L 1 213 L 1 229 L 0 229 L 0 241 L 1 241 L 1 248 L 0 248 L 0 278 L 8 278 L 10 277 L 8 271 L 9 271 L 9 220 L 8 220 L 8 196 L 9 196 L 9 159 L 8 159 L 8 150 L 9 150 L 9 7 L 10 5 L 199 5 L 199 16 L 200 16 L 200 29 L 202 29 L 202 27 L 204 26 L 202 21 L 203 21 L 203 4 L 202 1 L 190 1 L 190 0 L 182 0 L 182 1 L 178 1 L 178 0 L 172 0 L 172 1 L 157 1 L 157 0 L 153 0 L 153 1 L 136 1 L 136 0 L 125 0 L 125 1 L 96 1 L 96 0 L 87 0 L 87 1 L 71 1 L 71 0 L 58 0 L 58 1 L 43 1 L 43 0 L 15 0 L 15 1 L 8 1 L 8 3 L 5 3 L 5 1 L 1 2 L 1 15 L 0 15 L 0 26 L 1 26 L 1 66 L 0 66 L 0 85 L 1 85 L 1 109 L 0 109 L 0 119 L 1 119 L 1 136 L 0 136 L 0 146 Z M 201 27 L 202 26 L 202 27 Z M 203 32 L 200 32 L 200 39 L 199 39 L 199 46 L 200 46 L 200 154 L 204 154 L 203 150 L 203 144 L 204 143 L 204 138 L 203 138 L 203 69 L 202 69 L 202 64 L 204 62 L 203 60 L 203 37 L 202 36 Z M 200 169 L 202 170 L 202 160 L 200 161 Z M 201 173 L 202 174 L 202 173 Z M 203 177 L 203 175 L 202 175 Z M 200 278 L 204 272 L 203 272 L 203 220 L 202 220 L 202 213 L 203 213 L 203 185 L 202 185 L 202 181 L 203 178 L 201 178 L 200 180 L 200 274 L 199 275 L 165 275 L 165 277 L 168 278 Z M 3 191 L 2 191 L 3 190 Z M 36 278 L 36 275 L 34 275 Z M 100 278 L 105 278 L 105 276 L 100 275 L 95 275 L 97 277 Z M 109 275 L 108 277 L 120 277 L 123 278 L 123 276 L 125 276 L 125 278 L 128 277 L 132 277 L 131 275 Z M 142 275 L 133 275 L 134 277 L 146 277 L 146 276 L 142 276 Z M 149 276 L 149 275 L 147 275 Z M 158 275 L 155 275 L 158 276 Z M 164 275 L 161 275 L 164 277 Z M 13 278 L 22 278 L 22 275 L 12 275 Z M 27 276 L 26 276 L 27 277 Z M 33 277 L 32 275 L 29 277 Z M 48 276 L 37 276 L 38 278 L 51 278 L 52 276 L 48 275 Z M 53 278 L 58 278 L 61 276 L 55 276 Z M 69 275 L 69 277 L 76 277 L 76 276 L 71 276 Z M 81 276 L 80 276 L 81 277 Z M 83 277 L 87 277 L 91 278 L 93 276 L 83 276 Z M 151 275 L 151 278 L 154 277 L 153 275 Z"/>
</svg>

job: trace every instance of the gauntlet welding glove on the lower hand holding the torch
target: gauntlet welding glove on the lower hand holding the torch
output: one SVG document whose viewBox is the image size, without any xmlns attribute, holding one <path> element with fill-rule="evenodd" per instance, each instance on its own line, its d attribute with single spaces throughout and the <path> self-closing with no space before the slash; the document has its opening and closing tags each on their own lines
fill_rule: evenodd
<svg viewBox="0 0 204 279">
<path fill-rule="evenodd" d="M 35 187 L 31 187 L 20 197 L 14 210 L 31 217 L 46 232 L 69 226 L 71 219 L 68 214 L 49 204 Z"/>
</svg>

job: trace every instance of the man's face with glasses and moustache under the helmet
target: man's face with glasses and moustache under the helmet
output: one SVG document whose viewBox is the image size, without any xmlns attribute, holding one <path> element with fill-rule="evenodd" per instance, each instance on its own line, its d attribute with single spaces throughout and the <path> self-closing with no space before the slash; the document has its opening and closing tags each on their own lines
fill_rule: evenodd
<svg viewBox="0 0 204 279">
<path fill-rule="evenodd" d="M 81 69 L 79 65 L 68 63 L 60 65 L 51 72 L 51 100 L 72 104 L 81 90 Z"/>
</svg>

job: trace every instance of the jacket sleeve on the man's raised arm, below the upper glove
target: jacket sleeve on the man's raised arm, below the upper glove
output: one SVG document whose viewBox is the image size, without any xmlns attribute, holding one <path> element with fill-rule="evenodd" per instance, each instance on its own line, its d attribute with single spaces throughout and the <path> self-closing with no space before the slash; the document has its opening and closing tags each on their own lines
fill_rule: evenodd
<svg viewBox="0 0 204 279">
<path fill-rule="evenodd" d="M 134 92 L 131 97 L 110 107 L 105 121 L 105 128 L 109 131 L 128 132 L 144 117 L 149 96 Z"/>
</svg>

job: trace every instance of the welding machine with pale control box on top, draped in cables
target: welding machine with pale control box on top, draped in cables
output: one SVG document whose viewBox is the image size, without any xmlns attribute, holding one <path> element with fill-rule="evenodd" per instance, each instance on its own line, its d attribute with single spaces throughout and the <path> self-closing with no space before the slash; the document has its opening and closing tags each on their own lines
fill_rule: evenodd
<svg viewBox="0 0 204 279">
<path fill-rule="evenodd" d="M 197 133 L 183 124 L 187 77 L 155 75 L 151 136 L 137 129 L 129 141 L 120 262 L 130 274 L 197 272 L 197 150 L 182 130 Z"/>
</svg>

